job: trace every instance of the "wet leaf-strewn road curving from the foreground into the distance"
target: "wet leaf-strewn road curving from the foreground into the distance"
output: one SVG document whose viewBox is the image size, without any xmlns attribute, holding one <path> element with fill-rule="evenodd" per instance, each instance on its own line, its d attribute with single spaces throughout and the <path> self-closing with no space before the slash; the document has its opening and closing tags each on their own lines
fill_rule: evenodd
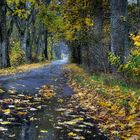
<svg viewBox="0 0 140 140">
<path fill-rule="evenodd" d="M 40 104 L 41 110 L 29 113 L 28 118 L 37 121 L 4 127 L 7 131 L 6 133 L 0 132 L 0 140 L 11 140 L 11 137 L 13 140 L 71 140 L 72 138 L 68 136 L 68 133 L 72 130 L 78 131 L 78 139 L 82 138 L 80 135 L 84 135 L 87 140 L 107 140 L 94 126 L 93 119 L 86 116 L 86 111 L 79 106 L 78 102 L 71 100 L 74 91 L 68 85 L 68 79 L 64 76 L 63 66 L 66 63 L 67 59 L 57 60 L 42 68 L 0 78 L 0 87 L 6 93 L 16 92 L 17 96 L 22 93 L 35 95 L 34 97 L 36 97 L 43 85 L 51 86 L 56 93 L 51 101 Z M 0 97 L 0 100 L 4 98 L 5 96 Z M 24 107 L 21 109 L 27 110 Z M 70 123 L 70 120 L 79 118 L 82 119 L 79 124 L 70 125 L 70 127 L 65 125 Z M 4 117 L 0 121 L 3 121 L 3 119 Z"/>
</svg>

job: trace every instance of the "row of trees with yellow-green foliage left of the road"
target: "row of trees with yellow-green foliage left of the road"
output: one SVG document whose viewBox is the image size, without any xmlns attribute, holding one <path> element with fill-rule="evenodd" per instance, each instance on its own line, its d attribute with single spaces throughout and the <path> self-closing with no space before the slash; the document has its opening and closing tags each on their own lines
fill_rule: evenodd
<svg viewBox="0 0 140 140">
<path fill-rule="evenodd" d="M 0 68 L 53 58 L 50 42 L 59 38 L 61 23 L 57 1 L 0 1 Z"/>
</svg>

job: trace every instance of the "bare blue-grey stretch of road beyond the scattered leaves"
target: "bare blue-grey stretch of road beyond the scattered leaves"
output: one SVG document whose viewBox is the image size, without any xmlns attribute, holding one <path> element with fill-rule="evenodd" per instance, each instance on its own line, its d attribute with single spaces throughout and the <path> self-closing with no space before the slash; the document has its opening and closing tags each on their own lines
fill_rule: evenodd
<svg viewBox="0 0 140 140">
<path fill-rule="evenodd" d="M 67 59 L 57 60 L 38 69 L 28 72 L 0 77 L 0 87 L 7 92 L 35 94 L 43 85 L 52 85 L 60 95 L 71 95 L 72 90 L 63 76 L 62 67 Z"/>
</svg>

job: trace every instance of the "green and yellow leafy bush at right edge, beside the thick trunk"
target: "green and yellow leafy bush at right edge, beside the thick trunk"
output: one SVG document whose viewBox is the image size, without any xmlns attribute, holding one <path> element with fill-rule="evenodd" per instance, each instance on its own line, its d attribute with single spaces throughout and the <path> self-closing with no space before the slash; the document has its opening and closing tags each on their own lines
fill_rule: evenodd
<svg viewBox="0 0 140 140">
<path fill-rule="evenodd" d="M 118 72 L 123 72 L 128 78 L 131 78 L 134 82 L 140 82 L 140 33 L 137 35 L 131 35 L 133 40 L 133 46 L 127 58 L 125 64 L 120 63 L 120 57 L 116 56 L 112 52 L 108 55 L 108 60 Z"/>
</svg>

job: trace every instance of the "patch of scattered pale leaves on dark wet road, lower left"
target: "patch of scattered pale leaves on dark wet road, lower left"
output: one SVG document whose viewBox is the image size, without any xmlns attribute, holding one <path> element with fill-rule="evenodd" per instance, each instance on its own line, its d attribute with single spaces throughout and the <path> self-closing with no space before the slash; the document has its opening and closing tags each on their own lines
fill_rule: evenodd
<svg viewBox="0 0 140 140">
<path fill-rule="evenodd" d="M 8 95 L 1 94 L 0 132 L 7 131 L 9 125 L 22 125 L 34 121 L 31 112 L 41 110 L 54 95 L 54 91 L 48 85 L 43 86 L 39 94 L 34 96 L 17 94 L 14 91 L 9 91 Z"/>
</svg>

